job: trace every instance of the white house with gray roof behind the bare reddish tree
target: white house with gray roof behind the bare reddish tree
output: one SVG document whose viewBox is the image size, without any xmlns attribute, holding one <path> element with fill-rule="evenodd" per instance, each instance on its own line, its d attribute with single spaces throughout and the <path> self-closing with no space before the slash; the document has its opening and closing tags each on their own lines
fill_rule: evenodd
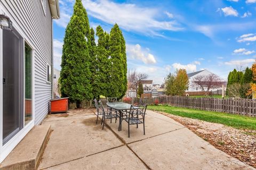
<svg viewBox="0 0 256 170">
<path fill-rule="evenodd" d="M 196 78 L 197 76 L 207 76 L 207 75 L 210 75 L 210 74 L 213 74 L 213 73 L 208 71 L 208 70 L 201 70 L 201 71 L 196 71 L 196 72 L 193 72 L 193 73 L 188 73 L 187 75 L 188 75 L 188 80 L 189 80 L 189 88 L 188 88 L 187 92 L 203 91 L 200 86 L 195 86 L 193 84 L 194 78 Z M 218 81 L 218 82 L 215 82 L 215 83 L 219 84 L 219 82 L 221 82 L 223 84 L 226 84 L 225 81 Z M 206 86 L 204 87 L 204 89 L 206 91 Z M 222 90 L 222 86 L 220 85 L 218 88 L 214 88 L 211 91 L 221 91 L 221 90 Z M 225 90 L 226 90 L 226 87 L 225 87 Z"/>
</svg>

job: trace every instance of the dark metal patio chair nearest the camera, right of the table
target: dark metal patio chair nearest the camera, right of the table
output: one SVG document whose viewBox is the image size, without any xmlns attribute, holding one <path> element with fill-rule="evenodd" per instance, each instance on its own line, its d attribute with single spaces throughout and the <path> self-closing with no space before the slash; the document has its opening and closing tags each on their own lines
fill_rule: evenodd
<svg viewBox="0 0 256 170">
<path fill-rule="evenodd" d="M 145 114 L 147 105 L 133 106 L 131 105 L 130 111 L 124 114 L 126 117 L 123 118 L 128 123 L 128 137 L 130 138 L 130 125 L 143 124 L 143 134 L 145 135 Z"/>
</svg>

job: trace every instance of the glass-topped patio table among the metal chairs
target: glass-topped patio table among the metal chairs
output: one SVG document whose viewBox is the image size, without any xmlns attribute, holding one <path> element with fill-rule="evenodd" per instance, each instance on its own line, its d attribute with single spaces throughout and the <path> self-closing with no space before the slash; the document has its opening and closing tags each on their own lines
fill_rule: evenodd
<svg viewBox="0 0 256 170">
<path fill-rule="evenodd" d="M 117 102 L 117 103 L 107 103 L 107 106 L 110 108 L 115 109 L 119 113 L 119 125 L 118 125 L 118 131 L 122 130 L 122 117 L 123 112 L 121 111 L 127 111 L 130 110 L 131 105 L 124 103 L 124 102 Z"/>
</svg>

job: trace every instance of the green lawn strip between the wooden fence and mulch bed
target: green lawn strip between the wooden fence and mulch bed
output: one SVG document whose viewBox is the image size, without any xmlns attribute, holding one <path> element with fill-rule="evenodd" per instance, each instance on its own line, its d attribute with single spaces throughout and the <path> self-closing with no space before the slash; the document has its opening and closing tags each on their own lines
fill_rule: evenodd
<svg viewBox="0 0 256 170">
<path fill-rule="evenodd" d="M 221 123 L 237 129 L 256 130 L 255 117 L 247 117 L 211 111 L 198 111 L 195 109 L 179 108 L 172 106 L 148 106 L 148 109 L 182 117 L 195 118 L 207 122 Z"/>
</svg>

